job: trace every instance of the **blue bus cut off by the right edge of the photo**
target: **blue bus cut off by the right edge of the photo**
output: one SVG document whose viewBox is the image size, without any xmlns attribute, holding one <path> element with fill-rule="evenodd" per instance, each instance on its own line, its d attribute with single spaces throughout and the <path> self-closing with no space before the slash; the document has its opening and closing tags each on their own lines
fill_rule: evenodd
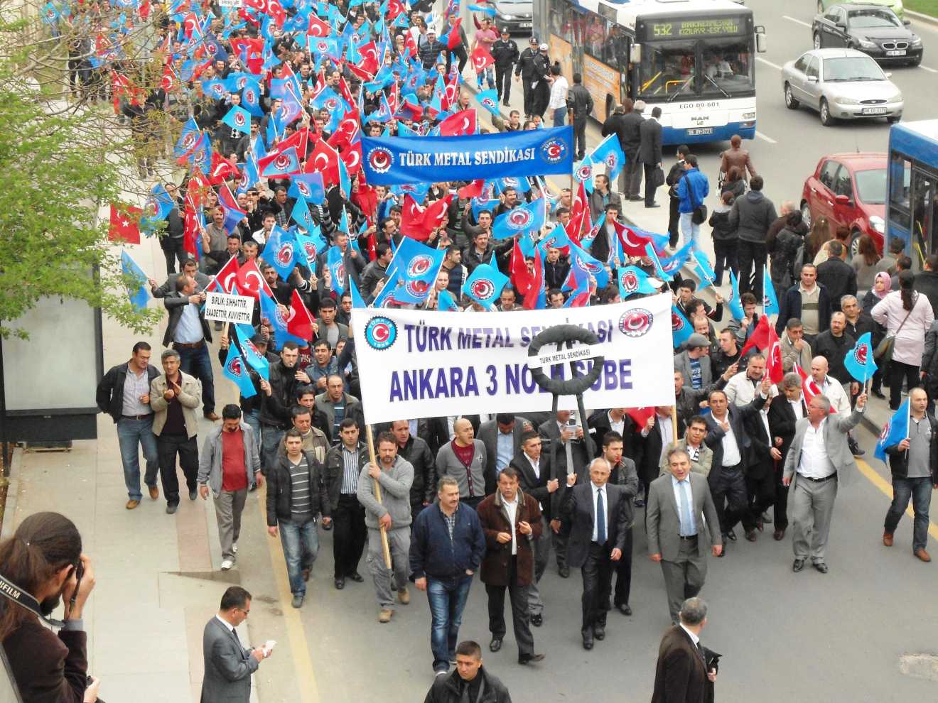
<svg viewBox="0 0 938 703">
<path fill-rule="evenodd" d="M 899 237 L 920 271 L 938 253 L 938 120 L 903 122 L 889 127 L 886 192 L 886 242 Z"/>
</svg>

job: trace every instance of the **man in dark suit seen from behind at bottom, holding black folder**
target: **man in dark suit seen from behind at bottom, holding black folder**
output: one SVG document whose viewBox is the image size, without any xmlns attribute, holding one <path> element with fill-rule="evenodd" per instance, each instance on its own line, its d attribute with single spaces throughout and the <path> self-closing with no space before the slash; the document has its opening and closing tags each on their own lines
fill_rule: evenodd
<svg viewBox="0 0 938 703">
<path fill-rule="evenodd" d="M 700 635 L 706 625 L 706 603 L 688 598 L 681 606 L 681 622 L 668 628 L 658 648 L 655 691 L 651 703 L 702 703 L 713 700 L 716 667 L 704 661 Z"/>
</svg>

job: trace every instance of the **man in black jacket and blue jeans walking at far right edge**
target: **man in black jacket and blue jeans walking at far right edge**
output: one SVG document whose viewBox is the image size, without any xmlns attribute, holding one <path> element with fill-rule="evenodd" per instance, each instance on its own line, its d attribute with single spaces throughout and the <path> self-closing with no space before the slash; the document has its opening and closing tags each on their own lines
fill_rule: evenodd
<svg viewBox="0 0 938 703">
<path fill-rule="evenodd" d="M 892 471 L 892 505 L 885 514 L 883 544 L 892 546 L 892 536 L 912 499 L 915 522 L 912 553 L 931 561 L 925 545 L 929 539 L 931 489 L 938 488 L 938 421 L 926 413 L 929 396 L 922 388 L 909 391 L 909 436 L 885 447 Z"/>
</svg>

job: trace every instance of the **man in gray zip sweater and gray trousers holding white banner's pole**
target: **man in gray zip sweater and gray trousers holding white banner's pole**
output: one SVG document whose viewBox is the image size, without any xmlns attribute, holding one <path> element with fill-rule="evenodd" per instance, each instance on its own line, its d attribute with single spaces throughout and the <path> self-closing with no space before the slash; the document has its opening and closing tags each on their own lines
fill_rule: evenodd
<svg viewBox="0 0 938 703">
<path fill-rule="evenodd" d="M 398 456 L 398 441 L 390 432 L 378 435 L 378 463 L 366 464 L 358 476 L 357 496 L 365 508 L 365 525 L 368 527 L 368 566 L 374 579 L 374 591 L 378 598 L 378 621 L 390 622 L 394 615 L 394 598 L 391 594 L 391 576 L 394 590 L 401 605 L 410 603 L 407 591 L 407 576 L 410 566 L 410 487 L 414 483 L 414 467 Z M 381 501 L 378 501 L 375 484 L 381 486 Z M 385 563 L 381 545 L 381 530 L 386 531 L 387 546 L 391 552 L 392 569 Z"/>
</svg>

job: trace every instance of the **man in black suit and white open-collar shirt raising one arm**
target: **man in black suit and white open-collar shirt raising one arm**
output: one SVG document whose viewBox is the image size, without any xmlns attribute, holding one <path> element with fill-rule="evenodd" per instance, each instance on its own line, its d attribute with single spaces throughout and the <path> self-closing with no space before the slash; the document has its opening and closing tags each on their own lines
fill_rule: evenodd
<svg viewBox="0 0 938 703">
<path fill-rule="evenodd" d="M 755 528 L 749 515 L 744 473 L 751 441 L 743 421 L 762 410 L 771 386 L 772 381 L 766 376 L 760 394 L 742 408 L 731 406 L 723 391 L 713 391 L 708 398 L 710 414 L 706 418 L 707 435 L 703 441 L 713 450 L 712 468 L 707 478 L 717 504 L 719 531 L 723 535 L 723 550 L 718 556 L 726 554 L 727 539 L 735 542 L 733 528 L 737 522 L 742 520 L 746 531 Z"/>
</svg>

